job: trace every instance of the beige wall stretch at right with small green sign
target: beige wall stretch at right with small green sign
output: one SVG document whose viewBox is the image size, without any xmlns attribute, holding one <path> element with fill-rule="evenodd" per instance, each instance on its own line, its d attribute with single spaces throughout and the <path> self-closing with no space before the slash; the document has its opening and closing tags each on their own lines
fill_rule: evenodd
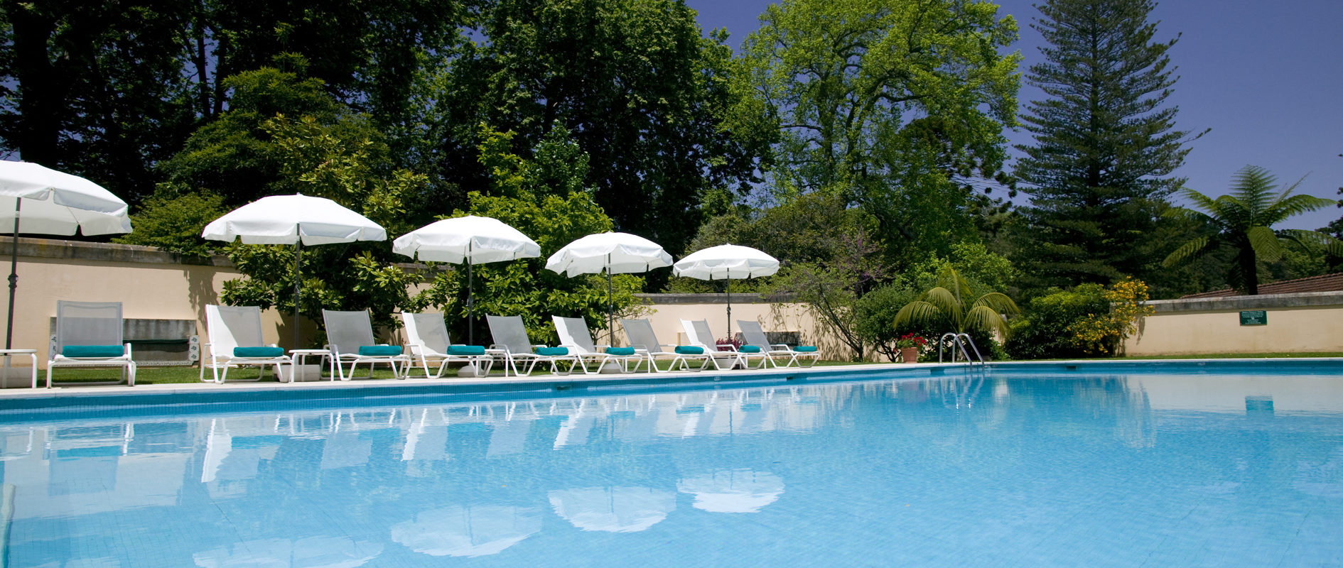
<svg viewBox="0 0 1343 568">
<path fill-rule="evenodd" d="M 1194 353 L 1343 352 L 1343 291 L 1159 299 L 1131 356 Z M 1264 310 L 1266 325 L 1241 325 L 1241 312 Z"/>
</svg>

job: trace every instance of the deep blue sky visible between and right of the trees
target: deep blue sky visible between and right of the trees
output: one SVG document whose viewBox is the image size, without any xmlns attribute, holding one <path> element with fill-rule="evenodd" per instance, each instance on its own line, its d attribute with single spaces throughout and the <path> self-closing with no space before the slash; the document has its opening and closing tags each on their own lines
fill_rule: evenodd
<svg viewBox="0 0 1343 568">
<path fill-rule="evenodd" d="M 768 0 L 685 0 L 705 30 L 728 28 L 737 47 L 759 27 Z M 1002 0 L 999 13 L 1021 28 L 1013 48 L 1022 73 L 1041 60 L 1039 34 L 1030 28 L 1039 12 L 1029 0 Z M 1307 176 L 1297 188 L 1339 199 L 1343 187 L 1343 1 L 1340 0 L 1167 0 L 1152 12 L 1156 38 L 1183 34 L 1170 51 L 1180 79 L 1168 103 L 1178 105 L 1178 128 L 1211 129 L 1176 175 L 1207 195 L 1226 192 L 1232 175 L 1246 164 L 1268 168 L 1279 183 Z M 1022 85 L 1019 102 L 1039 98 Z M 1030 141 L 1025 130 L 1009 133 Z M 1319 228 L 1343 215 L 1327 209 L 1289 219 L 1279 228 Z"/>
</svg>

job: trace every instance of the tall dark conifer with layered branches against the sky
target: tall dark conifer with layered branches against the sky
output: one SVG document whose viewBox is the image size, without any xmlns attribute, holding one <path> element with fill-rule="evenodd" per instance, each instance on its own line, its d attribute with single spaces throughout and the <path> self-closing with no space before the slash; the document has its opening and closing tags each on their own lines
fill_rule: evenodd
<svg viewBox="0 0 1343 568">
<path fill-rule="evenodd" d="M 1048 47 L 1027 81 L 1046 98 L 1022 121 L 1034 134 L 1015 175 L 1031 196 L 1019 248 L 1029 287 L 1146 277 L 1159 251 L 1160 212 L 1185 179 L 1189 133 L 1166 105 L 1176 77 L 1152 42 L 1151 0 L 1048 0 L 1031 27 Z"/>
</svg>

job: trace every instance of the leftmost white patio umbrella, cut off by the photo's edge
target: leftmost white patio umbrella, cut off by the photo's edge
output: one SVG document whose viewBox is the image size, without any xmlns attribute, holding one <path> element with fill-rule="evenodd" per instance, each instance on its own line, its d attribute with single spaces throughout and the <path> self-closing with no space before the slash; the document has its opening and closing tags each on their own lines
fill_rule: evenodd
<svg viewBox="0 0 1343 568">
<path fill-rule="evenodd" d="M 39 235 L 130 232 L 126 201 L 83 177 L 27 161 L 0 161 L 0 227 L 9 226 L 4 223 L 8 219 L 13 220 L 13 243 L 9 250 L 9 322 L 5 328 L 5 349 L 13 346 L 13 295 L 19 287 L 20 228 L 23 232 Z"/>
</svg>

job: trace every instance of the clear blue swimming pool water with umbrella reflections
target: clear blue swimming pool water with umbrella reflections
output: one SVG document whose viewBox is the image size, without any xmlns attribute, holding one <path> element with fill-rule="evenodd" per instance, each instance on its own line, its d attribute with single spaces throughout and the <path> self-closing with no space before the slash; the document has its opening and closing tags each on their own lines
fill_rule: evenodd
<svg viewBox="0 0 1343 568">
<path fill-rule="evenodd" d="M 1338 375 L 48 416 L 0 444 L 9 567 L 1343 565 Z"/>
</svg>

